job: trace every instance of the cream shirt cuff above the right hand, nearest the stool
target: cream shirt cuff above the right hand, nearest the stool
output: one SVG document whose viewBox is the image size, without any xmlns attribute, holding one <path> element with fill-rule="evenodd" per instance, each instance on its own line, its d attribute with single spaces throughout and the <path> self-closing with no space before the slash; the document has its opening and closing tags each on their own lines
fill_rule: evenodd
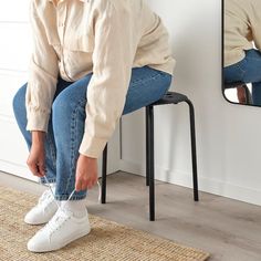
<svg viewBox="0 0 261 261">
<path fill-rule="evenodd" d="M 87 157 L 98 158 L 103 154 L 106 144 L 107 139 L 92 137 L 84 133 L 79 153 Z"/>
</svg>

